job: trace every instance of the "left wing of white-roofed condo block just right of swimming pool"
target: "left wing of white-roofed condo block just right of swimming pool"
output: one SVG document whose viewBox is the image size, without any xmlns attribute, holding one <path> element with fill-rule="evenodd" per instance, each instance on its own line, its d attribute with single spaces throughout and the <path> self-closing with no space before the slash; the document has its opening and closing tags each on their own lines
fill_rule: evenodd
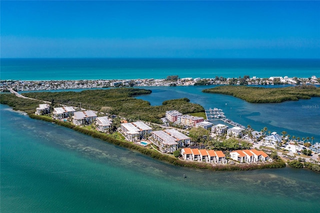
<svg viewBox="0 0 320 213">
<path fill-rule="evenodd" d="M 178 148 L 176 139 L 162 130 L 151 131 L 149 139 L 159 147 L 162 152 L 173 152 Z"/>
</svg>

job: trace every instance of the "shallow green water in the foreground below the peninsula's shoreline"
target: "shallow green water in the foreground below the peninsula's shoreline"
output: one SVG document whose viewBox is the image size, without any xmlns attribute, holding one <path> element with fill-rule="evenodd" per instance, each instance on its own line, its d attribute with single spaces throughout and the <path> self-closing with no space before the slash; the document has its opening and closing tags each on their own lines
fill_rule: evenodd
<svg viewBox="0 0 320 213">
<path fill-rule="evenodd" d="M 317 212 L 320 173 L 177 167 L 1 105 L 1 212 Z M 183 174 L 187 178 L 182 178 Z"/>
</svg>

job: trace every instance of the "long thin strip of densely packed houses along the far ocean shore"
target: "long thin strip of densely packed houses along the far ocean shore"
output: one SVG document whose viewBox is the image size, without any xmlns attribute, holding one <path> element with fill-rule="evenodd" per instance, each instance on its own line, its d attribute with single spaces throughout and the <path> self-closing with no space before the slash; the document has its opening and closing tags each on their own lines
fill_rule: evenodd
<svg viewBox="0 0 320 213">
<path fill-rule="evenodd" d="M 16 91 L 32 90 L 54 90 L 54 89 L 77 89 L 77 88 L 102 88 L 109 86 L 188 86 L 208 84 L 317 84 L 320 85 L 320 78 L 311 76 L 308 78 L 271 76 L 269 78 L 249 77 L 242 78 L 176 78 L 174 80 L 163 79 L 121 79 L 121 80 L 0 80 L 0 91 L 14 89 Z"/>
</svg>

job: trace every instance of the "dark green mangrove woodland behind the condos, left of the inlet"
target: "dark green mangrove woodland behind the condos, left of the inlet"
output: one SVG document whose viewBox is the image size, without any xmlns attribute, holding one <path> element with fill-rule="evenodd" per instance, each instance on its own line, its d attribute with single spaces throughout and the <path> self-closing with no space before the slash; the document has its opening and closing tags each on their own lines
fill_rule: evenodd
<svg viewBox="0 0 320 213">
<path fill-rule="evenodd" d="M 114 88 L 94 89 L 80 92 L 29 92 L 24 96 L 50 101 L 53 107 L 55 103 L 82 107 L 110 114 L 116 114 L 128 120 L 145 120 L 160 123 L 159 118 L 165 116 L 165 111 L 176 109 L 181 113 L 192 113 L 204 111 L 204 108 L 195 103 L 190 103 L 187 98 L 166 100 L 163 105 L 151 106 L 148 101 L 136 99 L 134 95 L 149 94 L 151 90 L 138 88 Z M 35 108 L 39 101 L 18 98 L 13 94 L 1 94 L 1 103 L 7 104 L 19 110 Z M 26 106 L 24 106 L 26 105 Z M 57 106 L 55 106 L 57 107 Z M 31 112 L 30 110 L 28 112 Z"/>
</svg>

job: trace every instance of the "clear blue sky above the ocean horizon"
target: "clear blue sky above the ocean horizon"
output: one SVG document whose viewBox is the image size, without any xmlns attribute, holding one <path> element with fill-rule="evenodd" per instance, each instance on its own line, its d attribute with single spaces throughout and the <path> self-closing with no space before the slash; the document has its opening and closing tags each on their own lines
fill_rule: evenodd
<svg viewBox="0 0 320 213">
<path fill-rule="evenodd" d="M 320 1 L 3 1 L 1 57 L 320 58 Z"/>
</svg>

